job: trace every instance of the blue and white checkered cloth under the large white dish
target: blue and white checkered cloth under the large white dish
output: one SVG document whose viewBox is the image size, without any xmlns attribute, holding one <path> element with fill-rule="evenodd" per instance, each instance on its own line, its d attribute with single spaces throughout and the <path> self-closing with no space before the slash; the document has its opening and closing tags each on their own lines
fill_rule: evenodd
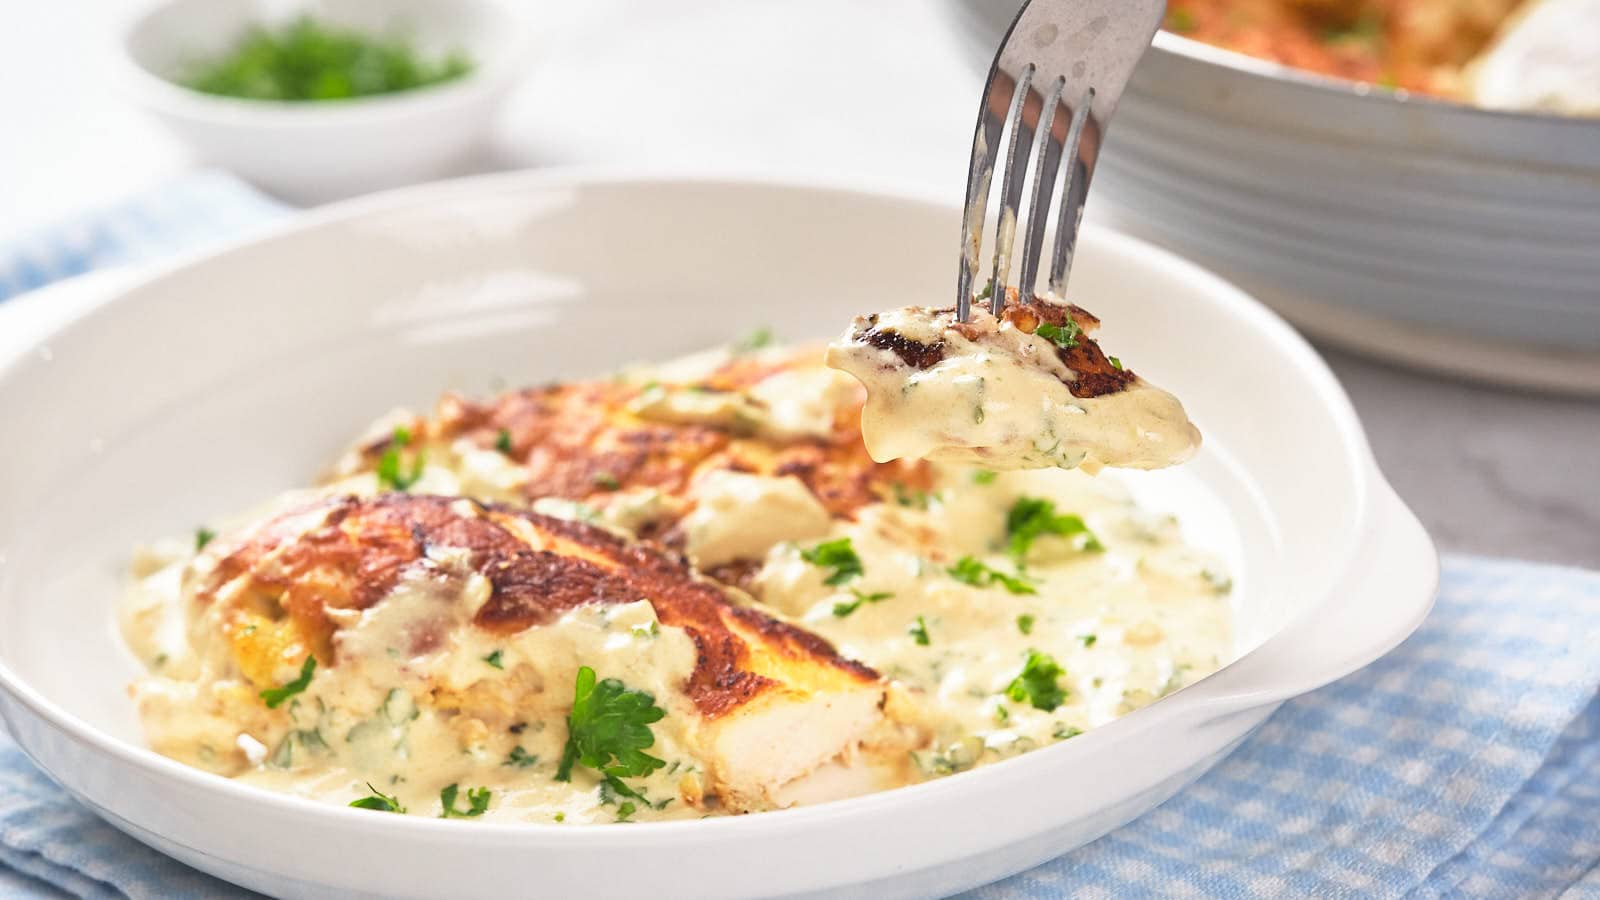
<svg viewBox="0 0 1600 900">
<path fill-rule="evenodd" d="M 182 191 L 189 216 L 214 210 L 219 223 L 187 221 L 189 235 L 280 211 L 226 176 Z M 155 205 L 178 210 L 171 197 Z M 114 229 L 86 223 L 75 234 L 154 223 L 146 203 L 120 208 Z M 91 250 L 69 263 L 38 250 L 78 245 L 61 237 L 32 243 L 21 266 L 0 248 L 0 298 L 6 285 L 147 253 L 85 242 Z M 1446 557 L 1437 607 L 1397 650 L 1285 703 L 1138 822 L 971 897 L 1600 900 L 1597 689 L 1600 573 Z M 0 733 L 0 897 L 13 895 L 246 894 L 102 823 Z"/>
</svg>

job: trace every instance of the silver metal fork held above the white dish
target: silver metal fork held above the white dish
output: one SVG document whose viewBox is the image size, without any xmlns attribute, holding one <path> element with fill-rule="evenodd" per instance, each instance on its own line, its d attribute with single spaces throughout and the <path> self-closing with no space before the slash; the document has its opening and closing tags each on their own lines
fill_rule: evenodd
<svg viewBox="0 0 1600 900">
<path fill-rule="evenodd" d="M 973 130 L 973 162 L 966 171 L 966 205 L 962 211 L 962 272 L 955 295 L 957 317 L 962 322 L 971 315 L 984 218 L 989 211 L 989 183 L 994 179 L 1002 131 L 1010 125 L 989 295 L 989 307 L 995 315 L 1005 306 L 1011 248 L 1019 224 L 1026 226 L 1026 240 L 1018 287 L 1024 301 L 1034 295 L 1056 175 L 1066 168 L 1050 263 L 1050 293 L 1061 295 L 1072 267 L 1083 200 L 1106 141 L 1106 128 L 1133 67 L 1149 50 L 1165 13 L 1165 0 L 1022 3 L 989 67 L 982 106 L 978 107 L 978 127 Z M 1022 154 L 1018 154 L 1019 146 Z M 1032 199 L 1027 218 L 1019 223 L 1018 203 L 1029 159 L 1034 160 Z"/>
</svg>

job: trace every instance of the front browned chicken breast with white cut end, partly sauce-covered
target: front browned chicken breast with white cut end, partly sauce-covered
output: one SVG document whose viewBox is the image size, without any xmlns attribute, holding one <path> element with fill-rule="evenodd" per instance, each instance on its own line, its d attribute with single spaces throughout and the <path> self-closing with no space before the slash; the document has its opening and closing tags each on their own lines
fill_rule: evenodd
<svg viewBox="0 0 1600 900">
<path fill-rule="evenodd" d="M 502 735 L 526 741 L 530 722 L 560 730 L 579 666 L 648 690 L 666 709 L 656 737 L 704 773 L 678 785 L 686 804 L 709 794 L 731 810 L 771 809 L 829 761 L 891 746 L 904 756 L 872 669 L 731 602 L 659 548 L 523 509 L 331 496 L 216 538 L 182 591 L 200 665 L 187 693 L 157 685 L 144 700 L 198 701 L 210 725 L 174 709 L 146 719 L 163 751 L 210 756 L 230 773 L 256 761 L 248 745 L 235 751 L 214 737 L 227 722 L 261 748 L 315 729 L 312 749 L 365 778 L 394 767 L 354 759 L 333 733 L 346 730 L 341 714 L 394 706 L 395 690 L 459 741 L 442 757 L 498 759 L 512 740 Z M 291 703 L 269 708 L 270 692 L 296 676 L 307 684 Z M 306 716 L 315 724 L 296 721 Z M 189 724 L 162 733 L 163 721 Z M 210 753 L 173 746 L 206 732 Z"/>
</svg>

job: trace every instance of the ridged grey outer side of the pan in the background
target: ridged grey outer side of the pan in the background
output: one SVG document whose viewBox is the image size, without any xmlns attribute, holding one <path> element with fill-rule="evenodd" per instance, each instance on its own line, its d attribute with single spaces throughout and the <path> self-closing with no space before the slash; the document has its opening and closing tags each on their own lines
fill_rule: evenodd
<svg viewBox="0 0 1600 900">
<path fill-rule="evenodd" d="M 1016 5 L 950 0 L 974 66 Z M 1094 183 L 1101 221 L 1330 343 L 1600 392 L 1600 119 L 1370 90 L 1162 32 Z"/>
</svg>

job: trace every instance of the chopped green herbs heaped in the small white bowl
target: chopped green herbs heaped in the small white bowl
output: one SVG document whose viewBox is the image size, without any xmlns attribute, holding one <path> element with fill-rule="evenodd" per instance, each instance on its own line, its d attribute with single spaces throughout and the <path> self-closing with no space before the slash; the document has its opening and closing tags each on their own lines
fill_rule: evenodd
<svg viewBox="0 0 1600 900">
<path fill-rule="evenodd" d="M 301 16 L 253 26 L 219 56 L 194 61 L 178 83 L 208 94 L 330 101 L 442 85 L 472 70 L 459 50 L 427 54 L 403 37 L 370 35 Z"/>
</svg>

